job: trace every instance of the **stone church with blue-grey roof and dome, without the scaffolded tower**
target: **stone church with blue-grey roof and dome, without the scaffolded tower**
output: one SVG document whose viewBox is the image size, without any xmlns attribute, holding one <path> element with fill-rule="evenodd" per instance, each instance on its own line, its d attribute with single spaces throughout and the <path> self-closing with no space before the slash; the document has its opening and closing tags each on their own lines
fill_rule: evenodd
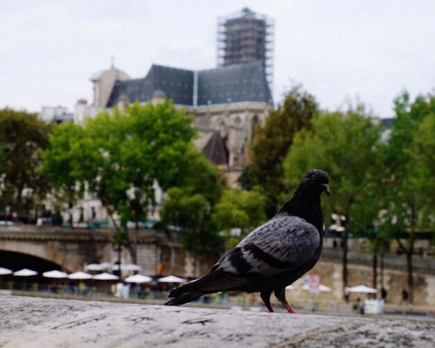
<svg viewBox="0 0 435 348">
<path fill-rule="evenodd" d="M 129 78 L 111 67 L 92 76 L 91 81 L 94 99 L 91 105 L 85 101 L 76 104 L 75 122 L 134 101 L 171 99 L 177 108 L 195 115 L 197 149 L 227 173 L 231 185 L 236 185 L 249 163 L 253 127 L 263 122 L 273 107 L 260 61 L 201 71 L 152 65 L 144 78 Z"/>
</svg>

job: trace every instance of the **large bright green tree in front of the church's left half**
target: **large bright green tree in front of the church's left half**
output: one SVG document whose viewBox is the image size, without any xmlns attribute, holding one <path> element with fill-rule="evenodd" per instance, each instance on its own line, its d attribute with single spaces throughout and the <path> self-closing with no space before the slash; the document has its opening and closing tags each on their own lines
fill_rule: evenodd
<svg viewBox="0 0 435 348">
<path fill-rule="evenodd" d="M 135 263 L 139 222 L 147 219 L 147 209 L 154 204 L 154 185 L 167 190 L 183 180 L 184 168 L 189 165 L 186 154 L 195 135 L 192 115 L 165 101 L 156 106 L 135 103 L 125 112 L 115 108 L 113 114 L 103 112 L 88 118 L 74 143 L 69 158 L 72 177 L 99 198 L 115 224 L 117 240 L 128 240 L 129 219 L 136 224 L 133 240 L 126 242 Z M 51 167 L 59 167 L 68 155 L 52 157 L 58 163 Z M 69 183 L 63 171 L 52 176 Z M 117 224 L 115 214 L 120 215 L 123 226 Z"/>
</svg>

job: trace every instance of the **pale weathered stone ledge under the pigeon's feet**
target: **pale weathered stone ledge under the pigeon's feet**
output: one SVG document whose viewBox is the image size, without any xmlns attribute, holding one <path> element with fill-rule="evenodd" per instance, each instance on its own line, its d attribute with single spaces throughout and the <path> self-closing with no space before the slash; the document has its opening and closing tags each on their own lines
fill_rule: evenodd
<svg viewBox="0 0 435 348">
<path fill-rule="evenodd" d="M 0 347 L 435 347 L 435 322 L 0 296 Z"/>
</svg>

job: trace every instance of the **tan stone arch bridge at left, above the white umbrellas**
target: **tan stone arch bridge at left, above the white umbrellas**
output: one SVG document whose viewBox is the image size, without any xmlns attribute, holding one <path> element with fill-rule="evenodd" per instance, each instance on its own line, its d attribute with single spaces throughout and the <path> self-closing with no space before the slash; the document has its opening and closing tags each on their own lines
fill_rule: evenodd
<svg viewBox="0 0 435 348">
<path fill-rule="evenodd" d="M 58 265 L 67 272 L 83 270 L 83 265 L 108 261 L 115 263 L 118 251 L 112 245 L 113 229 L 81 229 L 58 226 L 12 225 L 0 226 L 0 267 L 7 267 L 6 256 L 33 256 Z M 146 274 L 156 273 L 161 247 L 167 245 L 151 229 L 141 230 L 138 239 L 138 263 Z M 122 264 L 131 263 L 129 252 L 123 248 Z M 26 267 L 32 268 L 32 265 Z"/>
</svg>

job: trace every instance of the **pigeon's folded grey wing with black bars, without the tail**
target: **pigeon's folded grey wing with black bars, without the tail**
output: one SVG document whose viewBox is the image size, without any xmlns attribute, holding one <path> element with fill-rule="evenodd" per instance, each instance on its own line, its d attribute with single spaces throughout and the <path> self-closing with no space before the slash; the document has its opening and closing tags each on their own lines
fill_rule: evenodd
<svg viewBox="0 0 435 348">
<path fill-rule="evenodd" d="M 249 233 L 213 269 L 268 278 L 301 267 L 319 245 L 320 233 L 312 224 L 300 217 L 284 216 Z"/>
</svg>

